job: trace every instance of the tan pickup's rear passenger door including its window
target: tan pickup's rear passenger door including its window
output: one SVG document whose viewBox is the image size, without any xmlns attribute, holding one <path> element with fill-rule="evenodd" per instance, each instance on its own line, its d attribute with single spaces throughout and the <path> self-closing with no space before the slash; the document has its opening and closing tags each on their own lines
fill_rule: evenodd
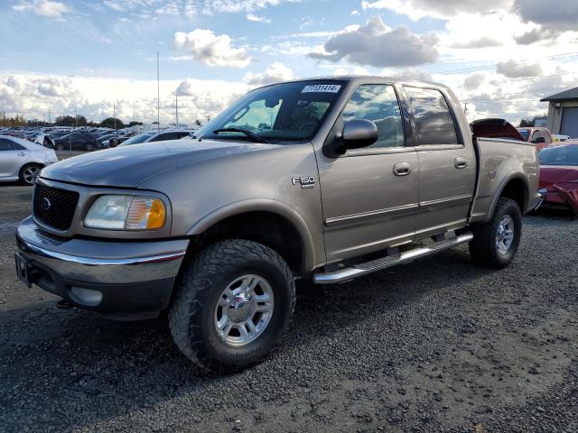
<svg viewBox="0 0 578 433">
<path fill-rule="evenodd" d="M 419 160 L 416 238 L 465 226 L 476 181 L 476 156 L 457 127 L 449 97 L 437 88 L 404 87 L 415 122 Z M 469 131 L 468 131 L 469 134 Z"/>
</svg>

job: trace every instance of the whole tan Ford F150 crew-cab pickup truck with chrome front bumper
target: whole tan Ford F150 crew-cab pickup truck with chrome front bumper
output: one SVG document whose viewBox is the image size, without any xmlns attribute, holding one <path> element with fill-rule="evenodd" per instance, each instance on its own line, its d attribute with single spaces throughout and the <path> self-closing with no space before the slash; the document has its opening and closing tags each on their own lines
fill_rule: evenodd
<svg viewBox="0 0 578 433">
<path fill-rule="evenodd" d="M 109 318 L 166 310 L 202 367 L 254 364 L 289 324 L 297 276 L 340 283 L 460 244 L 507 266 L 540 198 L 534 145 L 511 129 L 471 126 L 429 83 L 257 88 L 191 139 L 43 169 L 17 272 Z"/>
</svg>

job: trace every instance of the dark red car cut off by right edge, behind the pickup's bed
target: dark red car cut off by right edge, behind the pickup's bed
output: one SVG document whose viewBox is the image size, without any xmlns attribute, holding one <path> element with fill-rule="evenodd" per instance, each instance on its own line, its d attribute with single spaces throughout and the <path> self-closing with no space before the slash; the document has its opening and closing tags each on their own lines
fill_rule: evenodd
<svg viewBox="0 0 578 433">
<path fill-rule="evenodd" d="M 550 144 L 538 159 L 542 207 L 569 208 L 578 217 L 578 140 Z"/>
</svg>

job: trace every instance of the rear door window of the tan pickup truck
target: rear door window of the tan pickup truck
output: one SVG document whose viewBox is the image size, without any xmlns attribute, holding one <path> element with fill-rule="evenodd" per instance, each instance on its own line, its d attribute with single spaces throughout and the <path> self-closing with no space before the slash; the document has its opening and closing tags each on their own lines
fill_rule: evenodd
<svg viewBox="0 0 578 433">
<path fill-rule="evenodd" d="M 442 92 L 431 88 L 405 89 L 414 112 L 419 144 L 459 144 L 452 113 Z"/>
</svg>

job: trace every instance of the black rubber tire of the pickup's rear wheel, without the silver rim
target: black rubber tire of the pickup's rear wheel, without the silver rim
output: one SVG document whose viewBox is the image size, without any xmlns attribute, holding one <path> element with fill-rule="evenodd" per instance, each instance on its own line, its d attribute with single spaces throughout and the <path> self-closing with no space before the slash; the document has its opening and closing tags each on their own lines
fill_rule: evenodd
<svg viewBox="0 0 578 433">
<path fill-rule="evenodd" d="M 509 216 L 514 222 L 514 238 L 507 253 L 499 253 L 496 246 L 499 223 Z M 490 269 L 503 269 L 511 263 L 517 254 L 522 235 L 522 213 L 517 202 L 511 198 L 500 197 L 494 215 L 488 223 L 472 226 L 473 239 L 470 242 L 471 260 L 478 266 Z"/>
</svg>

